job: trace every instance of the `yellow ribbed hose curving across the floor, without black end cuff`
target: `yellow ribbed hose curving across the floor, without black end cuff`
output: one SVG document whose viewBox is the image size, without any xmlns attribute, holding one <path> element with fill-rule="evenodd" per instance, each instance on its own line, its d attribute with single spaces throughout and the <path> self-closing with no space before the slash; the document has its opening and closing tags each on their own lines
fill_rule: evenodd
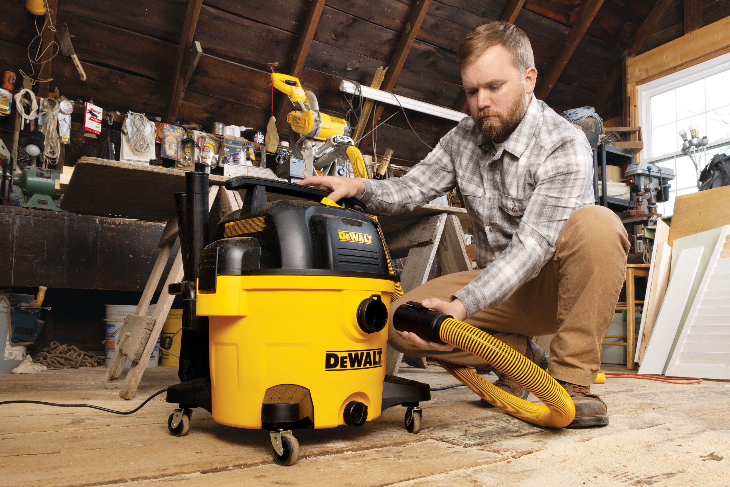
<svg viewBox="0 0 730 487">
<path fill-rule="evenodd" d="M 547 428 L 563 428 L 575 418 L 575 404 L 548 372 L 501 340 L 469 323 L 446 318 L 439 330 L 443 342 L 472 353 L 526 388 L 543 404 L 534 404 L 493 386 L 469 367 L 437 360 L 451 375 L 505 413 Z"/>
</svg>

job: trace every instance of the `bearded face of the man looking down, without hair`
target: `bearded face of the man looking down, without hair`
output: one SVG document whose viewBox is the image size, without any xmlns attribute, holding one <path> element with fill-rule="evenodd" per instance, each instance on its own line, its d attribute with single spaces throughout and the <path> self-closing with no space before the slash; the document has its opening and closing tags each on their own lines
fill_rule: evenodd
<svg viewBox="0 0 730 487">
<path fill-rule="evenodd" d="M 504 142 L 522 120 L 535 87 L 537 70 L 520 73 L 503 45 L 488 47 L 461 68 L 469 112 L 486 139 Z"/>
</svg>

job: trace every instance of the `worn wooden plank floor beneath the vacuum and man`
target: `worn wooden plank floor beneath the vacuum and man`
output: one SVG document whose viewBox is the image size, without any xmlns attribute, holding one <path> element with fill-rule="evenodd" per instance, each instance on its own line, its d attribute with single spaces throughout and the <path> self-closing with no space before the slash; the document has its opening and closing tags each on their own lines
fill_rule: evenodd
<svg viewBox="0 0 730 487">
<path fill-rule="evenodd" d="M 607 370 L 621 370 L 607 367 Z M 0 401 L 85 402 L 118 410 L 177 382 L 149 369 L 137 398 L 103 388 L 106 369 L 1 375 Z M 438 367 L 401 369 L 434 386 Z M 493 375 L 488 377 L 494 377 Z M 234 429 L 196 410 L 185 437 L 167 433 L 164 395 L 134 415 L 34 404 L 0 406 L 0 485 L 30 486 L 729 486 L 730 382 L 675 386 L 609 380 L 602 429 L 548 430 L 480 407 L 466 388 L 434 393 L 423 429 L 392 408 L 360 429 L 299 431 L 293 467 L 271 460 L 269 434 Z M 721 460 L 702 459 L 715 453 Z"/>
</svg>

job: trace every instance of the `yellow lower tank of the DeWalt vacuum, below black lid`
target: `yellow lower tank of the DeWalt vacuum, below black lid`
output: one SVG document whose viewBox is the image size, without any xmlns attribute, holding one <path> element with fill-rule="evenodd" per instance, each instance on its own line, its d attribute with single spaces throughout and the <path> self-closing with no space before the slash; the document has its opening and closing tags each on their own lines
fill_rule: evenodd
<svg viewBox="0 0 730 487">
<path fill-rule="evenodd" d="M 366 406 L 366 421 L 380 417 L 388 329 L 369 333 L 356 311 L 374 296 L 387 320 L 392 293 L 388 279 L 219 276 L 215 294 L 198 296 L 198 314 L 209 317 L 213 419 L 261 429 L 273 422 L 266 405 L 280 400 L 267 396 L 274 386 L 297 407 L 293 396 L 309 394 L 314 421 L 301 426 L 352 423 L 351 402 Z"/>
</svg>

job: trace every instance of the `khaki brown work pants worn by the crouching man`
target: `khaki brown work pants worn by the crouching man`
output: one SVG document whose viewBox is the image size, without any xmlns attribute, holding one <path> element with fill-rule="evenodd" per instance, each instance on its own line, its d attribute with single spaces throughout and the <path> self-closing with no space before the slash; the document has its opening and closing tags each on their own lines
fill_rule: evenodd
<svg viewBox="0 0 730 487">
<path fill-rule="evenodd" d="M 626 279 L 629 240 L 618 217 L 605 207 L 580 208 L 558 235 L 556 253 L 510 298 L 475 313 L 466 323 L 526 353 L 528 337 L 555 334 L 550 342 L 548 372 L 558 380 L 589 386 L 601 365 L 600 347 L 612 321 Z M 451 295 L 479 275 L 478 270 L 437 277 L 397 299 L 391 306 L 393 348 L 412 356 L 430 356 L 455 364 L 485 367 L 480 358 L 455 348 L 422 350 L 393 329 L 392 313 L 408 301 Z M 631 332 L 631 331 L 629 331 Z"/>
</svg>

